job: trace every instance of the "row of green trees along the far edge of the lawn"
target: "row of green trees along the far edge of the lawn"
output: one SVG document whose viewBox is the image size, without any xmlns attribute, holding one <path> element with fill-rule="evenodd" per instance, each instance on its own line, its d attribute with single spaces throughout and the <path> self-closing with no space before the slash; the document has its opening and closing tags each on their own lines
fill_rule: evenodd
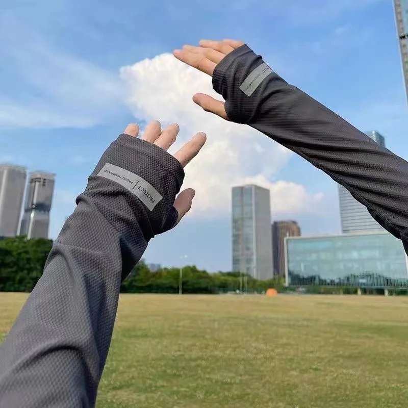
<svg viewBox="0 0 408 408">
<path fill-rule="evenodd" d="M 0 240 L 0 292 L 31 292 L 41 277 L 52 240 L 24 237 Z M 246 290 L 263 293 L 268 288 L 283 289 L 282 278 L 259 281 L 239 272 L 209 273 L 195 266 L 182 269 L 183 293 L 217 294 Z M 180 268 L 150 271 L 140 261 L 123 281 L 123 293 L 179 293 Z"/>
</svg>

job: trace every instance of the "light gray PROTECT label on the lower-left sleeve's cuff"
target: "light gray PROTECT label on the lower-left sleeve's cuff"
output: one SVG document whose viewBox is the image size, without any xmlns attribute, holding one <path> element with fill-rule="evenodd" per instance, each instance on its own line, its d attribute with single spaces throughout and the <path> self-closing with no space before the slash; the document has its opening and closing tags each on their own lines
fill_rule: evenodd
<svg viewBox="0 0 408 408">
<path fill-rule="evenodd" d="M 163 198 L 160 193 L 143 180 L 142 177 L 114 164 L 106 163 L 97 175 L 112 180 L 135 194 L 150 211 L 153 211 L 157 203 Z"/>
</svg>

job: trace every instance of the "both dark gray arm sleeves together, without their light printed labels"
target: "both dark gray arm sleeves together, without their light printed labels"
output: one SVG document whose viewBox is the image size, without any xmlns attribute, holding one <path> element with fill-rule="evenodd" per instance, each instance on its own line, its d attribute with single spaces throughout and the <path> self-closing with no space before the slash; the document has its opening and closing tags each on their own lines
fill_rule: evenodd
<svg viewBox="0 0 408 408">
<path fill-rule="evenodd" d="M 406 250 L 408 163 L 274 72 L 248 96 L 240 87 L 262 64 L 243 45 L 217 65 L 213 86 L 228 117 L 326 172 Z M 97 175 L 106 163 L 143 177 L 163 199 L 150 211 L 120 184 Z M 172 203 L 183 177 L 180 163 L 140 139 L 120 135 L 107 149 L 0 346 L 0 406 L 94 406 L 120 283 L 149 239 L 174 224 Z"/>
</svg>

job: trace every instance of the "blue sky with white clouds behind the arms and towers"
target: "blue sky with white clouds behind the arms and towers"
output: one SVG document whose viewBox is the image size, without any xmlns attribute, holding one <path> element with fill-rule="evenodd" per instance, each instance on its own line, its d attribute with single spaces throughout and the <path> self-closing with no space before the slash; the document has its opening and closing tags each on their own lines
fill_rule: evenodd
<svg viewBox="0 0 408 408">
<path fill-rule="evenodd" d="M 187 254 L 200 268 L 230 269 L 229 191 L 240 181 L 270 186 L 273 219 L 296 219 L 303 234 L 340 230 L 328 176 L 260 134 L 208 122 L 193 106 L 190 96 L 210 81 L 168 53 L 200 38 L 247 42 L 285 80 L 408 157 L 392 0 L 264 3 L 2 1 L 0 162 L 57 174 L 53 238 L 110 141 L 128 122 L 150 119 L 180 122 L 181 140 L 205 131 L 209 142 L 186 169 L 188 186 L 199 186 L 196 208 L 152 240 L 147 261 L 180 265 Z M 218 192 L 216 201 L 209 191 Z"/>
</svg>

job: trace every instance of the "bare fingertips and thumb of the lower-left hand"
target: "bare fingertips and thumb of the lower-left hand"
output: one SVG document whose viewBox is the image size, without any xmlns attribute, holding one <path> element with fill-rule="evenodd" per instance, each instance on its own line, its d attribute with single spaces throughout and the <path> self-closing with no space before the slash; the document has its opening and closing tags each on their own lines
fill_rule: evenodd
<svg viewBox="0 0 408 408">
<path fill-rule="evenodd" d="M 172 123 L 162 131 L 160 122 L 155 120 L 146 126 L 141 139 L 145 140 L 146 142 L 154 143 L 167 151 L 175 142 L 179 130 L 179 125 L 177 123 Z M 137 137 L 139 134 L 139 126 L 136 123 L 128 124 L 123 133 Z M 201 147 L 206 142 L 206 139 L 207 137 L 205 133 L 197 133 L 174 154 L 174 158 L 177 159 L 183 167 L 185 167 L 187 163 L 189 163 L 198 154 Z M 177 218 L 174 226 L 177 225 L 184 215 L 190 210 L 194 195 L 195 191 L 189 188 L 182 191 L 176 197 L 173 207 L 179 213 L 179 217 Z"/>
</svg>

